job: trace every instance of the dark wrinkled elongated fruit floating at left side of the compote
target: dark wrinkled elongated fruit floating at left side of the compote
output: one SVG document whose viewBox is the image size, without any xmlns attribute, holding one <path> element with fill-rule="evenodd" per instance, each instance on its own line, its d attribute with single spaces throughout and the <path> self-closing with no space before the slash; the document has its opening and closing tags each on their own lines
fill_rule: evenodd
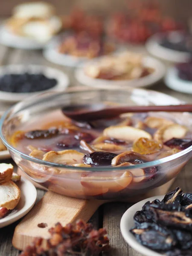
<svg viewBox="0 0 192 256">
<path fill-rule="evenodd" d="M 35 131 L 28 131 L 25 133 L 25 137 L 27 139 L 47 139 L 55 137 L 59 134 L 58 129 L 49 129 L 49 130 L 35 130 Z"/>
</svg>

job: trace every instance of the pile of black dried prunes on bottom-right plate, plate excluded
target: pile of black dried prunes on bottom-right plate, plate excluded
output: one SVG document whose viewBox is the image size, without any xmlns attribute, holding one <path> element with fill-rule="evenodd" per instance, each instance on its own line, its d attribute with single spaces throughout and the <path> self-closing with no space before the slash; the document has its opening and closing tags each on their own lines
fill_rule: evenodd
<svg viewBox="0 0 192 256">
<path fill-rule="evenodd" d="M 177 187 L 134 215 L 137 241 L 169 256 L 192 256 L 192 194 Z"/>
</svg>

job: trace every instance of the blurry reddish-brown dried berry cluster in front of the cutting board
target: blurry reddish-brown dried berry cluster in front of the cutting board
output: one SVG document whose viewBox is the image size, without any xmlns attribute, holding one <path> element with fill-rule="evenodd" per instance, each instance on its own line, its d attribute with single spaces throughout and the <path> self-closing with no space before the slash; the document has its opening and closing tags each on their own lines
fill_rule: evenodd
<svg viewBox="0 0 192 256">
<path fill-rule="evenodd" d="M 49 229 L 49 233 L 51 238 L 46 241 L 46 246 L 43 246 L 42 238 L 35 238 L 20 256 L 96 256 L 109 244 L 105 229 L 94 230 L 92 224 L 82 220 L 65 227 L 57 223 Z"/>
</svg>

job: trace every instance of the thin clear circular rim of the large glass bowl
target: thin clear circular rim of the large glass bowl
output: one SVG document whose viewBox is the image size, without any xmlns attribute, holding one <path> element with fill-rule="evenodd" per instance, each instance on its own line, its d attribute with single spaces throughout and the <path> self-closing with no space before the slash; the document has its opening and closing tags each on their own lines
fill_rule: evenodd
<svg viewBox="0 0 192 256">
<path fill-rule="evenodd" d="M 93 88 L 86 88 L 86 91 L 93 91 L 94 89 Z M 95 90 L 98 90 L 95 88 Z M 102 90 L 102 89 L 100 89 Z M 107 89 L 106 89 L 107 90 Z M 117 89 L 116 89 L 117 90 Z M 132 91 L 134 89 L 131 89 L 129 88 L 129 90 L 126 90 L 126 89 L 121 89 L 121 90 L 124 90 L 124 91 Z M 153 93 L 157 93 L 161 96 L 165 95 L 164 93 L 159 93 L 159 92 L 156 92 L 156 91 L 153 91 L 153 90 L 144 90 L 144 89 L 137 89 L 137 90 L 143 90 L 143 91 L 151 91 Z M 119 90 L 118 90 L 119 91 Z M 80 93 L 82 92 L 82 90 L 67 90 L 67 91 L 64 91 L 64 92 L 60 92 L 60 93 L 55 93 L 55 92 L 52 92 L 52 96 L 61 96 L 61 93 L 62 94 L 70 94 L 70 93 Z M 41 96 L 45 96 L 45 93 L 39 93 L 38 95 L 38 99 L 39 97 Z M 50 96 L 50 93 L 48 94 L 48 96 Z M 36 96 L 37 97 L 37 96 Z M 173 98 L 173 97 L 172 97 Z M 32 97 L 28 97 L 27 98 L 28 100 L 29 99 L 35 99 L 34 96 Z M 24 100 L 26 101 L 26 99 Z M 58 163 L 51 163 L 51 162 L 47 162 L 47 161 L 44 161 L 44 160 L 40 160 L 40 159 L 37 159 L 37 158 L 34 158 L 34 157 L 31 157 L 27 154 L 24 154 L 20 151 L 18 151 L 16 148 L 13 148 L 12 145 L 10 145 L 5 137 L 3 136 L 2 134 L 2 127 L 3 127 L 3 122 L 4 120 L 6 119 L 6 117 L 8 116 L 8 114 L 12 111 L 12 109 L 14 109 L 17 105 L 19 105 L 20 103 L 22 102 L 18 102 L 17 104 L 13 105 L 11 108 L 9 108 L 5 113 L 3 113 L 3 116 L 0 118 L 0 139 L 3 141 L 3 144 L 6 145 L 6 147 L 12 151 L 13 153 L 19 155 L 20 157 L 22 157 L 23 159 L 26 159 L 30 162 L 33 162 L 33 163 L 38 163 L 38 164 L 42 164 L 42 165 L 46 165 L 48 167 L 55 167 L 55 168 L 63 168 L 63 169 L 70 169 L 70 171 L 77 171 L 77 170 L 81 170 L 81 171 L 84 171 L 84 172 L 98 172 L 100 170 L 102 170 L 102 172 L 110 172 L 110 171 L 114 171 L 114 172 L 118 172 L 118 171 L 125 171 L 125 170 L 133 170 L 133 169 L 143 169 L 143 168 L 148 168 L 148 167 L 152 167 L 152 166 L 157 166 L 157 165 L 161 165 L 163 163 L 167 163 L 169 161 L 172 161 L 172 160 L 175 160 L 175 159 L 178 159 L 180 157 L 182 157 L 183 155 L 185 154 L 188 154 L 190 151 L 192 151 L 192 146 L 190 146 L 189 148 L 186 148 L 176 154 L 173 154 L 171 156 L 168 156 L 168 157 L 164 157 L 164 158 L 161 158 L 161 159 L 158 159 L 158 160 L 153 160 L 153 161 L 149 161 L 147 163 L 141 163 L 141 164 L 137 164 L 137 165 L 134 165 L 134 166 L 124 166 L 124 167 L 105 167 L 105 166 L 98 166 L 98 167 L 76 167 L 76 166 L 67 166 L 67 165 L 63 165 L 63 164 L 58 164 Z M 145 175 L 144 175 L 145 176 Z"/>
</svg>

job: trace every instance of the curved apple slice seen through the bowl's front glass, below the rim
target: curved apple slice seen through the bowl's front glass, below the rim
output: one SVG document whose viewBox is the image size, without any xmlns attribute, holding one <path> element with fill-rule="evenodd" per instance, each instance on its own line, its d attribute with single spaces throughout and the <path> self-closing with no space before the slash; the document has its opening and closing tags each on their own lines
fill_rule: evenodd
<svg viewBox="0 0 192 256">
<path fill-rule="evenodd" d="M 85 176 L 81 177 L 81 185 L 89 189 L 108 189 L 110 192 L 118 192 L 125 189 L 132 181 L 132 175 L 130 172 L 124 172 L 121 176 L 114 177 L 93 177 Z"/>
</svg>

